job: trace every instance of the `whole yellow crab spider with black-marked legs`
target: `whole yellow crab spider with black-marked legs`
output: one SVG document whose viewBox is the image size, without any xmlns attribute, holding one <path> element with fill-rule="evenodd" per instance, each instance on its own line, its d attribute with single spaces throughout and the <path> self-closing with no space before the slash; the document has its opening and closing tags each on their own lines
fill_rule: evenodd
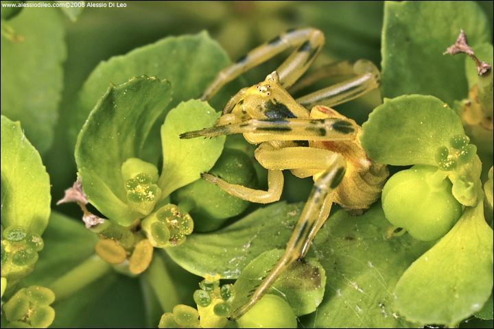
<svg viewBox="0 0 494 329">
<path fill-rule="evenodd" d="M 314 187 L 285 253 L 249 302 L 234 310 L 231 319 L 244 315 L 291 263 L 307 254 L 312 239 L 329 216 L 333 202 L 352 215 L 361 215 L 380 197 L 388 177 L 386 165 L 373 162 L 362 149 L 359 139 L 362 127 L 327 107 L 377 88 L 380 74 L 374 64 L 359 60 L 355 64 L 333 65 L 331 69 L 336 70 L 336 74 L 347 75 L 350 71 L 351 78 L 300 99 L 293 99 L 286 90 L 307 71 L 324 42 L 324 35 L 317 29 L 294 29 L 253 49 L 223 69 L 201 99 L 211 99 L 235 77 L 285 49 L 297 47 L 266 80 L 242 88 L 234 95 L 214 127 L 180 135 L 180 138 L 196 138 L 242 133 L 249 143 L 260 144 L 255 158 L 268 169 L 268 191 L 230 184 L 209 173 L 202 174 L 204 180 L 250 202 L 279 200 L 284 169 L 300 178 L 314 178 Z M 306 80 L 318 80 L 324 75 L 322 70 Z"/>
</svg>

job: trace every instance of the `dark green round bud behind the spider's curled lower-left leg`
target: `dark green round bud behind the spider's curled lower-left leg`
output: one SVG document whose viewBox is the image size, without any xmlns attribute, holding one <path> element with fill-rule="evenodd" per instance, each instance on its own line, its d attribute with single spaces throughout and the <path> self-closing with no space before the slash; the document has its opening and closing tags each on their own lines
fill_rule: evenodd
<svg viewBox="0 0 494 329">
<path fill-rule="evenodd" d="M 240 184 L 249 188 L 258 186 L 252 160 L 243 151 L 237 149 L 225 148 L 209 173 L 231 184 Z M 197 232 L 216 230 L 228 218 L 244 212 L 250 204 L 203 179 L 179 188 L 172 193 L 172 201 L 175 204 L 189 202 L 195 205 L 189 214 L 194 219 L 194 230 Z"/>
</svg>

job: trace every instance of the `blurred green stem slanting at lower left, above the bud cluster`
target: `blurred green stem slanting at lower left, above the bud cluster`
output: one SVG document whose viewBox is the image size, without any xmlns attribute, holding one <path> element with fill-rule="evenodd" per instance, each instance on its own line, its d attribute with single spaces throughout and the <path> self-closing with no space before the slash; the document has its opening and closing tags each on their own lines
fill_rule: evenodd
<svg viewBox="0 0 494 329">
<path fill-rule="evenodd" d="M 111 271 L 111 265 L 96 254 L 86 259 L 78 267 L 71 269 L 49 285 L 56 295 L 56 303 L 71 297 L 87 285 Z"/>
</svg>

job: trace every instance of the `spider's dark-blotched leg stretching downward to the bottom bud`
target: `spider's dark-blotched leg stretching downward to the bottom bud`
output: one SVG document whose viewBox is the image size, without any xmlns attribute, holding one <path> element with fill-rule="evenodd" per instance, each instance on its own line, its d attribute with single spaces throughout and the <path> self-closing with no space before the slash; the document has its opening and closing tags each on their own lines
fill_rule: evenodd
<svg viewBox="0 0 494 329">
<path fill-rule="evenodd" d="M 307 204 L 303 208 L 302 214 L 294 233 L 287 243 L 285 253 L 272 270 L 263 279 L 259 287 L 254 291 L 250 300 L 237 308 L 231 315 L 231 319 L 242 317 L 257 301 L 266 294 L 274 281 L 281 273 L 287 269 L 295 260 L 300 259 L 307 253 L 308 246 L 316 235 L 317 230 L 327 219 L 332 204 L 332 195 L 344 177 L 346 161 L 340 154 L 333 154 L 331 164 L 327 170 L 320 175 L 314 183 Z"/>
</svg>

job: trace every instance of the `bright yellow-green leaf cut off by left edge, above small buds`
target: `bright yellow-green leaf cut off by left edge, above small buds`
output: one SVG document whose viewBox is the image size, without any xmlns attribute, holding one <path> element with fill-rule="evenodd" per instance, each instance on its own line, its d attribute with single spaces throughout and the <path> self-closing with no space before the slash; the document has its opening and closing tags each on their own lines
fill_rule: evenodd
<svg viewBox="0 0 494 329">
<path fill-rule="evenodd" d="M 1 116 L 1 225 L 43 234 L 50 214 L 50 184 L 38 151 L 21 124 Z"/>
</svg>

